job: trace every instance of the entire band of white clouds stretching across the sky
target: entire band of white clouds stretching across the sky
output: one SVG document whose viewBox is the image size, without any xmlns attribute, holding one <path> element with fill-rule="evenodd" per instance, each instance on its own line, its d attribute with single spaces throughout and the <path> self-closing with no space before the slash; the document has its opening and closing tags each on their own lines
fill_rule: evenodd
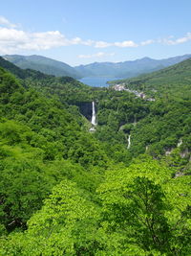
<svg viewBox="0 0 191 256">
<path fill-rule="evenodd" d="M 185 36 L 175 39 L 174 36 L 167 38 L 161 38 L 159 40 L 148 39 L 139 43 L 133 40 L 124 40 L 116 42 L 107 42 L 103 40 L 83 40 L 80 37 L 67 38 L 59 31 L 48 31 L 31 33 L 26 32 L 18 28 L 15 24 L 12 24 L 4 16 L 0 16 L 0 55 L 1 54 L 12 54 L 25 51 L 39 51 L 49 50 L 56 47 L 69 46 L 69 45 L 84 45 L 92 46 L 95 48 L 108 48 L 108 47 L 119 47 L 119 48 L 131 48 L 138 46 L 145 46 L 158 42 L 164 45 L 177 45 L 185 43 L 191 40 L 191 33 L 187 33 Z M 99 54 L 99 56 L 98 56 Z M 94 57 L 105 56 L 104 53 L 97 53 Z M 80 55 L 79 58 L 92 58 L 93 56 Z"/>
</svg>

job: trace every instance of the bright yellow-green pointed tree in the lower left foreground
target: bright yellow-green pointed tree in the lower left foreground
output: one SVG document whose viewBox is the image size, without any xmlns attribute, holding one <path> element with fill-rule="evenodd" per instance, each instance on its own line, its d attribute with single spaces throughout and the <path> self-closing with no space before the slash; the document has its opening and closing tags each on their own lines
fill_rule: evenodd
<svg viewBox="0 0 191 256">
<path fill-rule="evenodd" d="M 96 205 L 69 180 L 53 189 L 40 211 L 28 222 L 28 230 L 10 236 L 5 255 L 95 255 Z M 12 246 L 13 245 L 13 246 Z"/>
</svg>

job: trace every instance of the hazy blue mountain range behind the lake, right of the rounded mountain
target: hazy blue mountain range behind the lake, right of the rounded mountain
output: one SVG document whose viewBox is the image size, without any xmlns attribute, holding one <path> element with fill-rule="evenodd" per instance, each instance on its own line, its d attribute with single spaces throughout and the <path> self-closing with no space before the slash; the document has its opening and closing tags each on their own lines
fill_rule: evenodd
<svg viewBox="0 0 191 256">
<path fill-rule="evenodd" d="M 179 63 L 187 58 L 191 58 L 191 55 L 164 59 L 140 58 L 117 63 L 95 62 L 88 65 L 75 66 L 74 68 L 82 77 L 132 78 Z"/>
</svg>

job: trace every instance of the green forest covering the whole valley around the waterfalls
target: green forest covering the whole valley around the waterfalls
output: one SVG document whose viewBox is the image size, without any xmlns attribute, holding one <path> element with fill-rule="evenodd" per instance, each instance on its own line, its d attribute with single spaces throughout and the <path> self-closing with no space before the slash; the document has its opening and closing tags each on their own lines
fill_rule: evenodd
<svg viewBox="0 0 191 256">
<path fill-rule="evenodd" d="M 0 255 L 191 255 L 191 59 L 116 82 L 0 58 Z"/>
</svg>

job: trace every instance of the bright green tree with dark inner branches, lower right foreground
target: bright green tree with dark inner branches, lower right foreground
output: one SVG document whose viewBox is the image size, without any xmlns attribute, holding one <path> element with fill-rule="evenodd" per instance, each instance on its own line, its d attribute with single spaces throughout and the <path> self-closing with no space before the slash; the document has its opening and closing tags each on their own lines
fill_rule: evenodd
<svg viewBox="0 0 191 256">
<path fill-rule="evenodd" d="M 181 255 L 189 250 L 189 182 L 172 178 L 172 170 L 146 156 L 128 169 L 107 171 L 98 192 L 108 250 L 121 255 Z"/>
</svg>

